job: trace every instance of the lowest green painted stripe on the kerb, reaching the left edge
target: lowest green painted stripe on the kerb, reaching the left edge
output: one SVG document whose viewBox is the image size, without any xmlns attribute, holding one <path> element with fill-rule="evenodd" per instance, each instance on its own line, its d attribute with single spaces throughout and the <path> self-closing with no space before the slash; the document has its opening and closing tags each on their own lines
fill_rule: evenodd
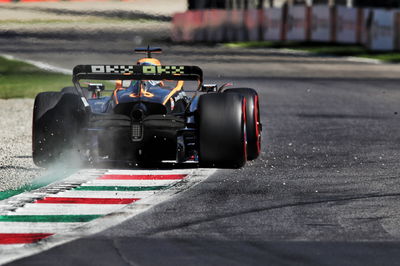
<svg viewBox="0 0 400 266">
<path fill-rule="evenodd" d="M 0 222 L 85 223 L 103 215 L 0 215 Z"/>
</svg>

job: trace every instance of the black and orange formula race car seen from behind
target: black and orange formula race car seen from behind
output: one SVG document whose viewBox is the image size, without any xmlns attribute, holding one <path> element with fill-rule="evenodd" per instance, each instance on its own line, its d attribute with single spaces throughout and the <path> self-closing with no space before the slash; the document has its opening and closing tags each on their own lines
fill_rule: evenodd
<svg viewBox="0 0 400 266">
<path fill-rule="evenodd" d="M 199 67 L 161 65 L 152 58 L 160 48 L 136 52 L 147 57 L 136 65 L 78 65 L 74 87 L 36 96 L 37 166 L 73 158 L 86 166 L 174 160 L 237 168 L 259 156 L 262 127 L 254 89 L 203 84 Z"/>
</svg>

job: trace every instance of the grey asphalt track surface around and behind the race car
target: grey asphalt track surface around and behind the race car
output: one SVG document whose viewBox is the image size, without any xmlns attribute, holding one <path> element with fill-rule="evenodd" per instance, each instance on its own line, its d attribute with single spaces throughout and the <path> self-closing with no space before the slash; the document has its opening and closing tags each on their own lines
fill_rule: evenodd
<svg viewBox="0 0 400 266">
<path fill-rule="evenodd" d="M 103 38 L 12 36 L 0 51 L 64 68 L 134 62 L 129 40 Z M 197 64 L 206 80 L 258 90 L 261 158 L 10 265 L 399 264 L 399 66 L 276 50 L 166 50 L 165 63 Z"/>
</svg>

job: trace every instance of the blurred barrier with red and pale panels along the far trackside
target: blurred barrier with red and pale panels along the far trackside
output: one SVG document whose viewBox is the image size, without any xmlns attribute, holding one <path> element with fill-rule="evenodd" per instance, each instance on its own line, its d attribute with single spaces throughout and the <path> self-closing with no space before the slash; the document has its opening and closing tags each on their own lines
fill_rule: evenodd
<svg viewBox="0 0 400 266">
<path fill-rule="evenodd" d="M 186 11 L 174 15 L 172 39 L 315 41 L 363 44 L 371 50 L 400 50 L 400 10 L 317 5 Z"/>
</svg>

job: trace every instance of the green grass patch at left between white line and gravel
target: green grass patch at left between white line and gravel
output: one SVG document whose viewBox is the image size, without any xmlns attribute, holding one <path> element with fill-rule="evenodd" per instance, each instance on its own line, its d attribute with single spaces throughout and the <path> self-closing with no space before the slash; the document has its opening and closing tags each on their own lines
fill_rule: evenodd
<svg viewBox="0 0 400 266">
<path fill-rule="evenodd" d="M 31 64 L 0 57 L 0 98 L 34 98 L 42 91 L 72 86 L 71 75 L 49 72 Z"/>
</svg>

